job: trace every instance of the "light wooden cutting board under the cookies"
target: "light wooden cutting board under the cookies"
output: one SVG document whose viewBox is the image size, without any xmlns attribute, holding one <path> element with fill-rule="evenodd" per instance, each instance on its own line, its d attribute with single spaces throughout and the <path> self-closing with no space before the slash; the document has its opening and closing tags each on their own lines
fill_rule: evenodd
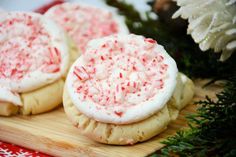
<svg viewBox="0 0 236 157">
<path fill-rule="evenodd" d="M 220 89 L 216 85 L 203 89 L 204 83 L 206 81 L 195 80 L 196 95 L 193 102 L 203 99 L 206 94 L 214 97 Z M 63 108 L 36 116 L 0 117 L 0 140 L 53 156 L 143 157 L 162 148 L 164 145 L 161 141 L 187 126 L 184 117 L 196 109 L 191 104 L 181 111 L 178 119 L 162 134 L 133 146 L 111 146 L 91 141 L 71 125 Z"/>
</svg>

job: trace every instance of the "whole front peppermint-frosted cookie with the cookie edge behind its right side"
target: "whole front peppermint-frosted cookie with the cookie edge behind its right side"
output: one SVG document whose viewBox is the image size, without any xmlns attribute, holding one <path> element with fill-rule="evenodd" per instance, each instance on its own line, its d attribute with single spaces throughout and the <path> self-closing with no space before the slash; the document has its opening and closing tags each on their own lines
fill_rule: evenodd
<svg viewBox="0 0 236 157">
<path fill-rule="evenodd" d="M 113 35 L 90 41 L 72 65 L 63 104 L 89 138 L 134 144 L 165 130 L 192 99 L 193 87 L 155 40 Z"/>
</svg>

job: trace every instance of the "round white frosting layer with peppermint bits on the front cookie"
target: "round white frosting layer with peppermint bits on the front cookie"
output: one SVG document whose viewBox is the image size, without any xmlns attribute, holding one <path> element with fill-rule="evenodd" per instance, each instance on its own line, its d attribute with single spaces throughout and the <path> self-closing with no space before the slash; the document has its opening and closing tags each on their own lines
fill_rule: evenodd
<svg viewBox="0 0 236 157">
<path fill-rule="evenodd" d="M 175 89 L 177 71 L 175 61 L 154 40 L 113 35 L 89 42 L 71 67 L 66 88 L 85 115 L 128 124 L 163 108 Z"/>
</svg>

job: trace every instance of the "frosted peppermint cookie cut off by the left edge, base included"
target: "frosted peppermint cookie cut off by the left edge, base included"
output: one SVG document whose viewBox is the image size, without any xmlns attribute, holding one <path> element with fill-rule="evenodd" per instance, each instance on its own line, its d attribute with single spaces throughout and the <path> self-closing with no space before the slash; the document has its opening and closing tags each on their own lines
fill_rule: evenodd
<svg viewBox="0 0 236 157">
<path fill-rule="evenodd" d="M 36 13 L 0 15 L 0 115 L 37 114 L 62 102 L 69 66 L 66 35 Z"/>
</svg>

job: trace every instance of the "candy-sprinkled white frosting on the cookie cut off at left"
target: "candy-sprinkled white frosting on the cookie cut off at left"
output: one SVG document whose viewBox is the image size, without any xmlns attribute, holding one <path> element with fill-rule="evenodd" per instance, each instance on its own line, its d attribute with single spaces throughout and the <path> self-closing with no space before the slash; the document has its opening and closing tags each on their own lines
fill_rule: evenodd
<svg viewBox="0 0 236 157">
<path fill-rule="evenodd" d="M 54 22 L 27 12 L 8 12 L 1 17 L 0 85 L 10 91 L 5 90 L 0 101 L 9 97 L 7 93 L 28 92 L 56 81 L 68 65 L 66 36 Z"/>
</svg>

